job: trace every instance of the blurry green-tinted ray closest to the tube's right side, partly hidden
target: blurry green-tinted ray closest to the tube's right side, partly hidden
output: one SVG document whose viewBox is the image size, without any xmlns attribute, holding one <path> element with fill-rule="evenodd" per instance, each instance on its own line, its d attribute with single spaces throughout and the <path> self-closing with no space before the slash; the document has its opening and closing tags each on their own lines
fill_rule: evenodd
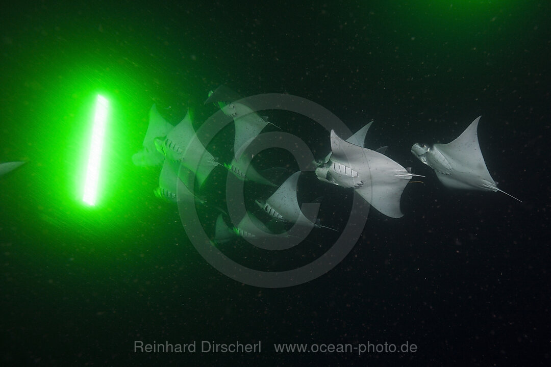
<svg viewBox="0 0 551 367">
<path fill-rule="evenodd" d="M 158 166 L 164 161 L 163 154 L 155 149 L 155 139 L 164 138 L 174 128 L 160 115 L 156 105 L 149 109 L 149 124 L 142 150 L 132 156 L 132 162 L 136 166 Z"/>
</svg>

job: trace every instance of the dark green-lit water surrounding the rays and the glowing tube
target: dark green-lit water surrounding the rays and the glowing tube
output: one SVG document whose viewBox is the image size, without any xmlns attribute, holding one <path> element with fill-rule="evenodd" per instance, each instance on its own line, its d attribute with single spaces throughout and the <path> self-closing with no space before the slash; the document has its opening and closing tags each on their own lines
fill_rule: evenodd
<svg viewBox="0 0 551 367">
<path fill-rule="evenodd" d="M 547 1 L 4 3 L 0 12 L 0 327 L 7 364 L 547 365 L 551 33 Z M 287 289 L 237 283 L 192 247 L 157 169 L 129 157 L 153 102 L 206 92 L 325 106 L 425 184 L 370 213 L 334 270 Z M 117 106 L 109 188 L 74 199 L 94 93 Z M 455 192 L 410 154 L 482 114 L 499 193 Z M 315 138 L 328 147 L 327 136 Z M 324 140 L 325 139 L 325 140 Z M 321 151 L 322 149 L 320 149 Z M 344 200 L 344 199 L 343 199 Z M 261 340 L 260 354 L 134 354 L 133 341 Z M 410 354 L 274 355 L 271 343 L 403 343 Z"/>
</svg>

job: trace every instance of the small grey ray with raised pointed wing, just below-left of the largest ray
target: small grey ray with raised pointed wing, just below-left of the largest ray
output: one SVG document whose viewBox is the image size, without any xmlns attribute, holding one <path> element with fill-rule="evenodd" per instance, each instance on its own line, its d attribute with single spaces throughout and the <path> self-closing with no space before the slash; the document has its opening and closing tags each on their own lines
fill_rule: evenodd
<svg viewBox="0 0 551 367">
<path fill-rule="evenodd" d="M 304 225 L 315 225 L 300 210 L 296 198 L 296 187 L 299 182 L 300 171 L 293 173 L 266 201 L 257 202 L 261 208 L 272 217 Z"/>
</svg>

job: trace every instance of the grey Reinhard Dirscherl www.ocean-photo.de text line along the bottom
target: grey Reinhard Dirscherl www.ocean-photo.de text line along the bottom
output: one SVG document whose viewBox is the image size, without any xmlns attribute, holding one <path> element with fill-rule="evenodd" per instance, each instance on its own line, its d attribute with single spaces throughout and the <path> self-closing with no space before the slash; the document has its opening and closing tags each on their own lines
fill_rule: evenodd
<svg viewBox="0 0 551 367">
<path fill-rule="evenodd" d="M 134 341 L 134 353 L 261 353 L 262 343 L 216 343 L 203 340 L 192 341 L 187 344 L 156 342 L 144 343 Z M 276 353 L 415 353 L 417 344 L 405 342 L 393 343 L 281 343 L 273 344 L 272 352 Z"/>
</svg>

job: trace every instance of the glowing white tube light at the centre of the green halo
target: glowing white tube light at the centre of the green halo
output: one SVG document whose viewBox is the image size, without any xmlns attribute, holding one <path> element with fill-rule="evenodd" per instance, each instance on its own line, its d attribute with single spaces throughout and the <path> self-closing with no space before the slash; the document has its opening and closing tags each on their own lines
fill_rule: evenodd
<svg viewBox="0 0 551 367">
<path fill-rule="evenodd" d="M 98 98 L 96 98 L 94 127 L 92 130 L 90 154 L 88 157 L 88 169 L 86 171 L 86 180 L 84 182 L 84 195 L 82 198 L 86 204 L 91 206 L 96 204 L 96 198 L 98 195 L 101 151 L 103 150 L 108 105 L 109 102 L 106 98 L 98 95 Z"/>
</svg>

